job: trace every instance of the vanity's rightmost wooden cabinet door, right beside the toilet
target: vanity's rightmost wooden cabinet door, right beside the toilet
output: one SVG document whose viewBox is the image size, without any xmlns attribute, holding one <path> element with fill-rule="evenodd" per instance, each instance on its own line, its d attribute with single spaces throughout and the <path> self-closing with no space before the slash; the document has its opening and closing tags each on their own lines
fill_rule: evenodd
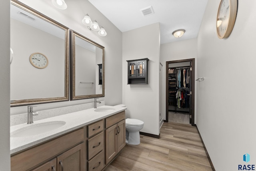
<svg viewBox="0 0 256 171">
<path fill-rule="evenodd" d="M 118 134 L 117 134 L 117 152 L 124 148 L 125 142 L 125 120 L 118 122 L 117 124 Z"/>
</svg>

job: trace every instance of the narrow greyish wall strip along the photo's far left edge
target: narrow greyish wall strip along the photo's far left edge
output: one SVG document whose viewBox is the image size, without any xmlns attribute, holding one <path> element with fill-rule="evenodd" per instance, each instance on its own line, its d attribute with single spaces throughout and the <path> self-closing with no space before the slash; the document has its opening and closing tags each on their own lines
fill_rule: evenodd
<svg viewBox="0 0 256 171">
<path fill-rule="evenodd" d="M 0 9 L 0 171 L 10 171 L 10 1 Z"/>
</svg>

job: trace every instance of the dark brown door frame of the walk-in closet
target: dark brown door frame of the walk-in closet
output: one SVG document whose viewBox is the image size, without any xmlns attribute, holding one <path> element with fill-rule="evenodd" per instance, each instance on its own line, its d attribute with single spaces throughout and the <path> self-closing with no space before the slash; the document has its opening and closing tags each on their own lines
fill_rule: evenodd
<svg viewBox="0 0 256 171">
<path fill-rule="evenodd" d="M 175 61 L 166 61 L 166 120 L 164 122 L 169 121 L 169 108 L 168 108 L 168 68 L 169 64 L 172 63 L 180 63 L 180 62 L 191 62 L 192 65 L 192 71 L 191 71 L 191 91 L 192 91 L 192 96 L 191 96 L 191 125 L 196 126 L 195 124 L 195 58 L 191 59 L 186 59 L 186 60 L 175 60 Z"/>
</svg>

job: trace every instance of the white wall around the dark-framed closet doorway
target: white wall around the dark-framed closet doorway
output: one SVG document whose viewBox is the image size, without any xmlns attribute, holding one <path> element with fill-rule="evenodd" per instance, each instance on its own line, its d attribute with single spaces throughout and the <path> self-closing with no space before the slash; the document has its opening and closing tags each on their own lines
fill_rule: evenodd
<svg viewBox="0 0 256 171">
<path fill-rule="evenodd" d="M 164 120 L 166 120 L 166 62 L 167 61 L 174 61 L 174 60 L 185 60 L 190 58 L 195 58 L 197 60 L 197 40 L 189 39 L 183 40 L 174 43 L 167 43 L 161 44 L 160 48 L 160 62 L 163 64 L 163 102 L 164 102 Z M 196 63 L 196 62 L 195 62 Z M 196 68 L 196 64 L 195 64 Z M 195 71 L 195 75 L 196 75 Z M 195 91 L 196 91 L 196 84 L 195 84 Z M 195 92 L 195 99 L 196 99 L 196 92 Z M 195 124 L 196 124 L 196 101 L 195 101 Z"/>
</svg>

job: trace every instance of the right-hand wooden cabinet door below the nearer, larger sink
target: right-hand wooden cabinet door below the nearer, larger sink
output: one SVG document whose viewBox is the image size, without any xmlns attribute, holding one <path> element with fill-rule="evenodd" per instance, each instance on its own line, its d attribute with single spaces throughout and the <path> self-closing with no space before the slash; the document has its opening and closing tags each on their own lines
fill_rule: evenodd
<svg viewBox="0 0 256 171">
<path fill-rule="evenodd" d="M 58 171 L 85 171 L 84 143 L 62 153 L 57 157 Z"/>
</svg>

